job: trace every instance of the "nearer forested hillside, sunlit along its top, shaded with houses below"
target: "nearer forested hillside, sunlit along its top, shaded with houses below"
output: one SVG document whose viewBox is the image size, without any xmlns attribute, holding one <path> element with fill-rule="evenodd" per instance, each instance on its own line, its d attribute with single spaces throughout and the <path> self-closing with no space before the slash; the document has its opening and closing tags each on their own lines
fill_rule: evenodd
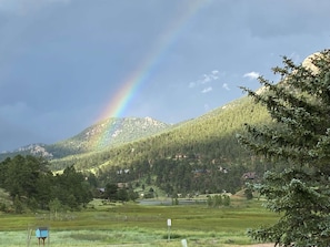
<svg viewBox="0 0 330 247">
<path fill-rule="evenodd" d="M 100 185 L 143 181 L 169 194 L 236 192 L 243 173 L 261 175 L 267 168 L 238 144 L 236 135 L 247 122 L 267 121 L 264 109 L 242 97 L 148 138 L 53 159 L 51 167 L 56 171 L 74 165 L 94 173 Z"/>
</svg>

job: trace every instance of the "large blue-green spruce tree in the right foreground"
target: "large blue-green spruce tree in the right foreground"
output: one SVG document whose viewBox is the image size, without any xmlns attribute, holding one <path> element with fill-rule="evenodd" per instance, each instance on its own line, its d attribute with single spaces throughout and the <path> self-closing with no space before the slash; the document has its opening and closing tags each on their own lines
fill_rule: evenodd
<svg viewBox="0 0 330 247">
<path fill-rule="evenodd" d="M 273 122 L 247 124 L 240 142 L 282 171 L 269 171 L 259 186 L 266 206 L 280 213 L 272 226 L 249 230 L 262 241 L 280 246 L 330 245 L 330 50 L 301 64 L 283 58 L 274 68 L 279 83 L 259 78 L 262 90 L 243 88 L 264 105 Z"/>
</svg>

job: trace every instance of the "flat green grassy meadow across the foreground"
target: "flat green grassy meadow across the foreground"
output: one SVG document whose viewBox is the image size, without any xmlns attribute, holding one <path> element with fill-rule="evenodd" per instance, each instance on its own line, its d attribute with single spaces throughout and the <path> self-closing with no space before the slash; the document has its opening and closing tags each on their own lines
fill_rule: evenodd
<svg viewBox="0 0 330 247">
<path fill-rule="evenodd" d="M 171 219 L 171 227 L 168 227 Z M 209 208 L 204 204 L 178 206 L 103 205 L 94 200 L 90 209 L 62 213 L 0 215 L 0 246 L 38 246 L 34 229 L 49 227 L 44 246 L 182 246 L 249 245 L 248 228 L 274 223 L 278 216 L 259 200 L 232 198 L 230 207 Z"/>
</svg>

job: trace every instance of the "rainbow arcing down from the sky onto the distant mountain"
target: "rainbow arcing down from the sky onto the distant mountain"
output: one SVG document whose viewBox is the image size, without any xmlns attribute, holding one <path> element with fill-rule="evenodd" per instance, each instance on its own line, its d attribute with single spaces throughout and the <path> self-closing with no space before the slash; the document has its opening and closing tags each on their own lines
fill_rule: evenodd
<svg viewBox="0 0 330 247">
<path fill-rule="evenodd" d="M 182 8 L 184 11 L 178 12 L 177 17 L 172 18 L 171 22 L 167 25 L 163 32 L 161 32 L 161 35 L 157 40 L 153 49 L 151 49 L 151 51 L 144 56 L 143 61 L 139 63 L 139 66 L 137 66 L 136 70 L 121 83 L 121 88 L 111 95 L 111 101 L 107 104 L 106 110 L 102 112 L 100 117 L 98 117 L 97 122 L 123 115 L 134 94 L 139 91 L 139 88 L 161 63 L 168 50 L 180 38 L 180 33 L 184 30 L 189 21 L 196 17 L 201 9 L 210 4 L 211 1 L 212 0 L 190 0 L 189 6 L 187 4 Z M 106 140 L 109 140 L 112 124 L 111 121 L 106 122 L 108 123 L 108 126 L 102 128 L 103 133 L 94 136 L 94 140 L 92 141 L 92 148 L 104 146 Z"/>
</svg>

